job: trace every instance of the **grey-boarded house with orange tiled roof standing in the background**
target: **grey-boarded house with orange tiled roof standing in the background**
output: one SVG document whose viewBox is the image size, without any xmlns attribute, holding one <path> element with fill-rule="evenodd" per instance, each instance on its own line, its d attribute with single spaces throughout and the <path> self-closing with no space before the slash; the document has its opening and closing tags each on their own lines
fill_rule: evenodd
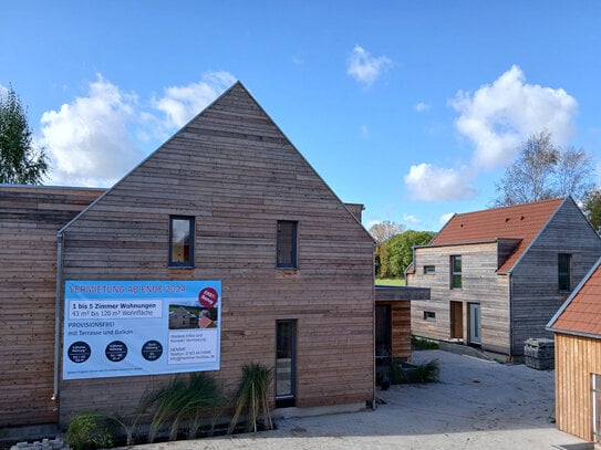
<svg viewBox="0 0 601 450">
<path fill-rule="evenodd" d="M 571 198 L 455 214 L 414 250 L 407 285 L 431 300 L 412 302 L 412 333 L 522 356 L 600 254 Z"/>
</svg>

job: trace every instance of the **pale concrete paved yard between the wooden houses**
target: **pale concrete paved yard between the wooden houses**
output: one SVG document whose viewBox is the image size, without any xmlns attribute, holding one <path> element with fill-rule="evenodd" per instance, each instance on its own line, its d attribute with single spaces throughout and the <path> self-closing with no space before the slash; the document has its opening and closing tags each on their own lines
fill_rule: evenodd
<svg viewBox="0 0 601 450">
<path fill-rule="evenodd" d="M 284 419 L 278 421 L 274 431 L 135 449 L 536 450 L 584 443 L 557 430 L 551 421 L 552 370 L 501 365 L 442 350 L 414 353 L 415 363 L 432 359 L 439 363 L 441 383 L 379 389 L 383 402 L 375 411 Z"/>
</svg>

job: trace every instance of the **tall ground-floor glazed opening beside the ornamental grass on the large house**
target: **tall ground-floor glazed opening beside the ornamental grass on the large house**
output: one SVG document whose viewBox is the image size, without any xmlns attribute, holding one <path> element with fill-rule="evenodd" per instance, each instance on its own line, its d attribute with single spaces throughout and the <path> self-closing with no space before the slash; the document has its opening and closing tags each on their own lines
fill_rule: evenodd
<svg viewBox="0 0 601 450">
<path fill-rule="evenodd" d="M 276 407 L 296 405 L 297 321 L 276 321 Z"/>
</svg>

